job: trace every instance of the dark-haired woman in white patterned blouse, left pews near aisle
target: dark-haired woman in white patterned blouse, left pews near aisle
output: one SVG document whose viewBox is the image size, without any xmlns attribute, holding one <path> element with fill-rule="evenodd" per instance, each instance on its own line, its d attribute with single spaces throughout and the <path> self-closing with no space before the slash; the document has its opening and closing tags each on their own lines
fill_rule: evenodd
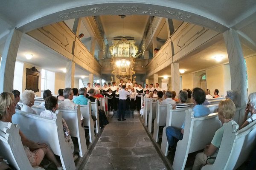
<svg viewBox="0 0 256 170">
<path fill-rule="evenodd" d="M 45 116 L 45 117 L 49 117 L 49 118 L 54 118 L 56 117 L 55 111 L 58 110 L 58 99 L 54 96 L 49 96 L 45 99 L 45 111 L 42 111 L 40 113 L 40 116 Z M 62 118 L 62 126 L 63 126 L 63 132 L 64 132 L 64 137 L 65 137 L 65 142 L 70 144 L 71 147 L 71 152 L 74 152 L 74 144 L 73 141 L 71 139 L 70 136 L 70 130 L 67 127 L 67 123 L 65 122 L 65 120 Z M 74 160 L 78 158 L 78 156 L 74 156 Z"/>
</svg>

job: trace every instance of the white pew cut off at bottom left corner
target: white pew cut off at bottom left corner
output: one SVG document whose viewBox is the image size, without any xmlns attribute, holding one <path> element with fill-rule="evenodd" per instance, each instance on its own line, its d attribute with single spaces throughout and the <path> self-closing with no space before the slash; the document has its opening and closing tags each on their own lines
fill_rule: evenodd
<svg viewBox="0 0 256 170">
<path fill-rule="evenodd" d="M 19 125 L 0 121 L 0 156 L 17 170 L 35 170 L 20 140 Z"/>
</svg>

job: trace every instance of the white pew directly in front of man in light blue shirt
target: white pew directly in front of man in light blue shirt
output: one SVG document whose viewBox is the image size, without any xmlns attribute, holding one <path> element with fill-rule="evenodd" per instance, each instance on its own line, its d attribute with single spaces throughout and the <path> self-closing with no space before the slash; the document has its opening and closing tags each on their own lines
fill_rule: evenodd
<svg viewBox="0 0 256 170">
<path fill-rule="evenodd" d="M 163 128 L 163 136 L 162 136 L 162 143 L 161 143 L 161 150 L 165 156 L 168 155 L 168 147 L 169 147 L 167 137 L 166 137 L 166 127 L 172 126 L 181 130 L 181 126 L 183 125 L 183 122 L 186 116 L 185 111 L 188 109 L 188 108 L 172 109 L 172 106 L 167 106 L 167 107 L 168 107 L 168 112 L 166 116 L 166 126 Z M 210 113 L 217 112 L 218 105 L 208 105 L 207 107 L 210 109 Z"/>
</svg>

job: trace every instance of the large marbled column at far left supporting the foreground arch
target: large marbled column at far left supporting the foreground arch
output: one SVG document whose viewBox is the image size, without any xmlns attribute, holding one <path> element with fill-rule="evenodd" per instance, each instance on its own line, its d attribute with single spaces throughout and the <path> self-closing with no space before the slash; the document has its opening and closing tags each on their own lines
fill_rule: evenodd
<svg viewBox="0 0 256 170">
<path fill-rule="evenodd" d="M 22 32 L 12 29 L 6 39 L 0 65 L 0 93 L 13 90 L 15 61 L 21 36 Z"/>
</svg>

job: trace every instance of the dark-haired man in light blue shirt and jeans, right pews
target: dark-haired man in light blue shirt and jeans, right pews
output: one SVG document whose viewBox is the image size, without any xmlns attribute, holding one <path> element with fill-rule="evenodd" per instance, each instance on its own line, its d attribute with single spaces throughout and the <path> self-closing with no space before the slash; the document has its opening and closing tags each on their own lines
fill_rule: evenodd
<svg viewBox="0 0 256 170">
<path fill-rule="evenodd" d="M 168 91 L 166 91 L 166 93 L 167 92 Z M 195 117 L 208 115 L 210 113 L 210 110 L 209 108 L 207 108 L 207 106 L 203 105 L 203 102 L 205 100 L 204 90 L 201 88 L 194 88 L 192 94 L 193 94 L 192 100 L 195 103 L 195 106 L 193 108 L 193 111 L 195 112 L 194 114 Z M 169 96 L 171 97 L 172 95 L 169 95 Z M 172 126 L 166 127 L 166 137 L 170 147 L 174 147 L 176 139 L 177 140 L 183 139 L 184 126 L 185 126 L 185 122 L 183 123 L 181 130 L 177 130 Z"/>
</svg>

